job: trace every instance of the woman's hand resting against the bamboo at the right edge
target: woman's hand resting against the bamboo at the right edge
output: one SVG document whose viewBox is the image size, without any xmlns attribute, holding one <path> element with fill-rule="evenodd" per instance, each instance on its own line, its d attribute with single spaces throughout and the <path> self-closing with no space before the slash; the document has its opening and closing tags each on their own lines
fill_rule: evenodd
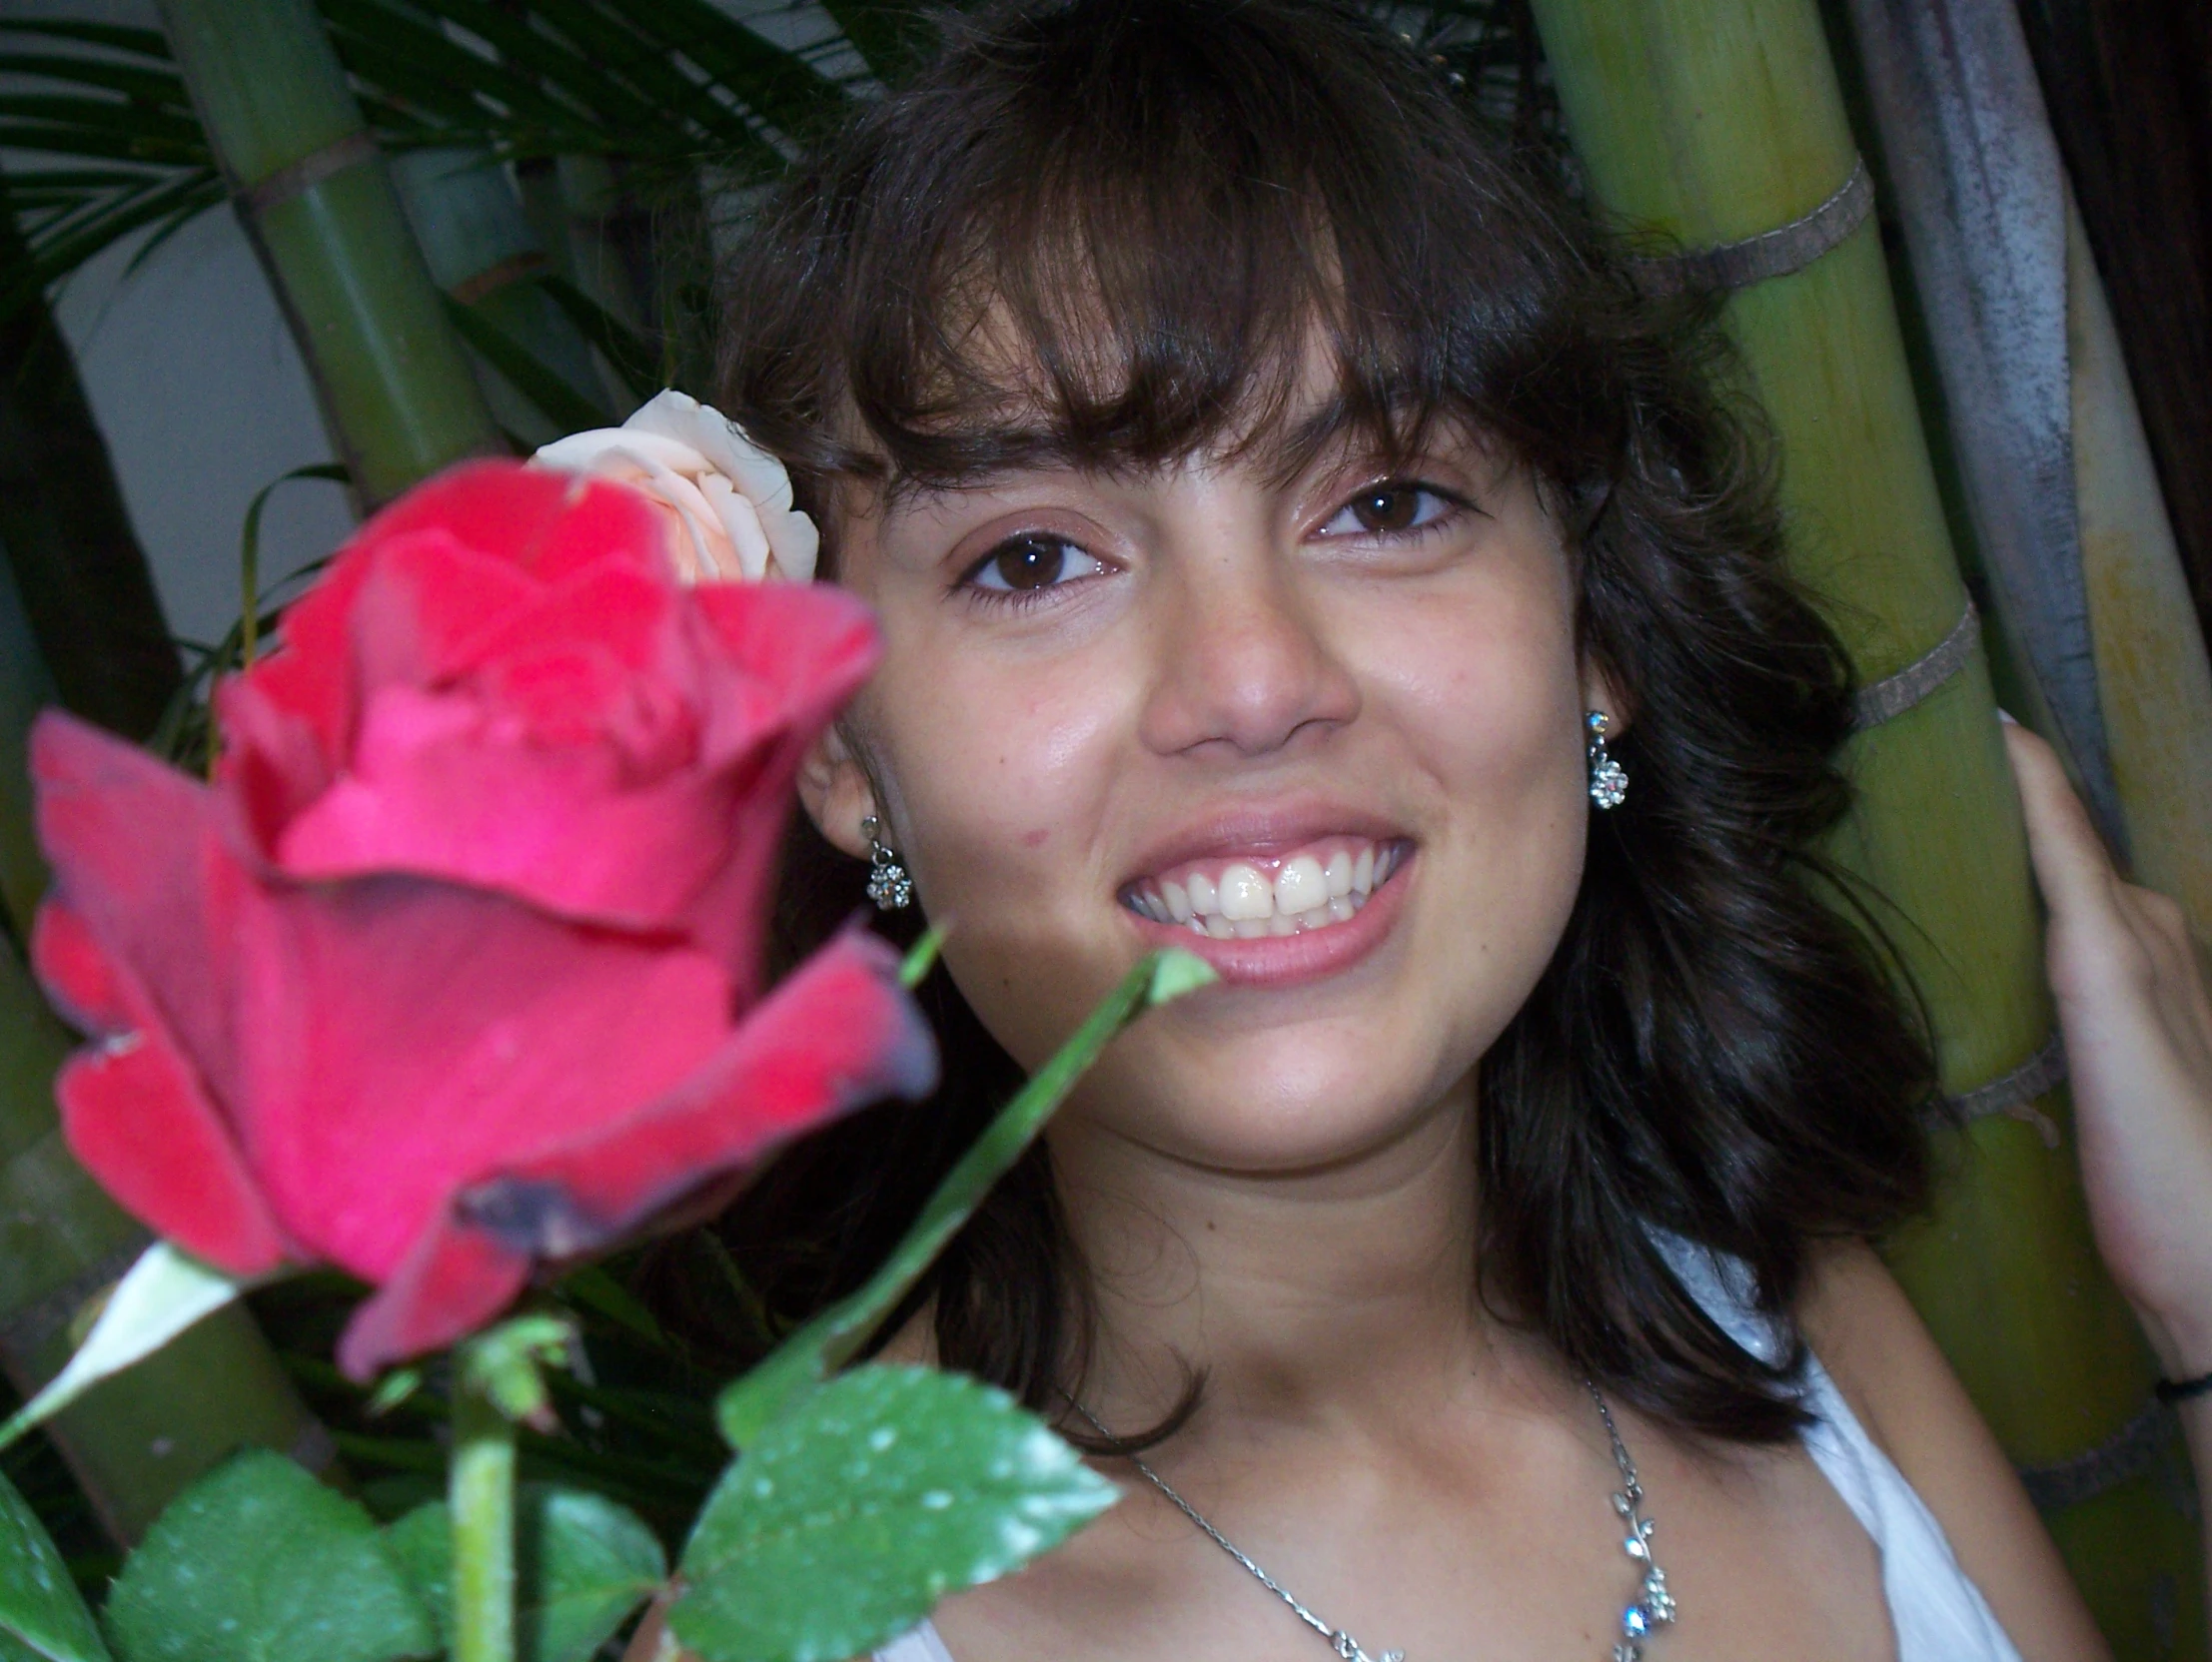
<svg viewBox="0 0 2212 1662">
<path fill-rule="evenodd" d="M 2006 725 L 2097 1246 L 2170 1379 L 2212 1370 L 2212 999 L 2181 908 L 2121 882 L 2051 747 Z"/>
</svg>

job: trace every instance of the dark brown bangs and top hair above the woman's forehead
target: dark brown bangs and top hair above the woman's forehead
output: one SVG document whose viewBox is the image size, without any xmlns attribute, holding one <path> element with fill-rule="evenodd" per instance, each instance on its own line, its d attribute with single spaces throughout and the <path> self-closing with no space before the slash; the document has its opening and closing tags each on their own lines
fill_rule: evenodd
<svg viewBox="0 0 2212 1662">
<path fill-rule="evenodd" d="M 1267 29 L 1128 7 L 1082 53 L 1048 13 L 953 27 L 945 62 L 987 40 L 995 86 L 925 75 L 763 239 L 825 261 L 810 431 L 759 435 L 816 493 L 1197 453 L 1287 477 L 1336 440 L 1396 464 L 1440 420 L 1500 427 L 1495 389 L 1557 360 L 1546 325 L 1593 272 L 1546 270 L 1562 239 L 1520 177 L 1440 141 L 1462 126 L 1442 88 L 1385 42 L 1347 53 L 1327 7 Z M 732 336 L 768 320 L 757 294 L 741 267 Z"/>
</svg>

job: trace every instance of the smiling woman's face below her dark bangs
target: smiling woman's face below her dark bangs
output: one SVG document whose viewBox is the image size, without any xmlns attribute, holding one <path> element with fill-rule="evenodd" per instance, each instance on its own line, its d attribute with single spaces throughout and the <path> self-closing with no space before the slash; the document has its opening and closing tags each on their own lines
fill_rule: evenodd
<svg viewBox="0 0 2212 1662">
<path fill-rule="evenodd" d="M 1566 926 L 1613 709 L 1524 471 L 1449 438 L 1020 471 L 863 504 L 838 559 L 883 621 L 849 723 L 883 798 L 832 743 L 807 807 L 852 853 L 880 816 L 998 1041 L 1035 1067 L 1150 946 L 1221 972 L 1068 1114 L 1259 1174 L 1467 1101 Z"/>
</svg>

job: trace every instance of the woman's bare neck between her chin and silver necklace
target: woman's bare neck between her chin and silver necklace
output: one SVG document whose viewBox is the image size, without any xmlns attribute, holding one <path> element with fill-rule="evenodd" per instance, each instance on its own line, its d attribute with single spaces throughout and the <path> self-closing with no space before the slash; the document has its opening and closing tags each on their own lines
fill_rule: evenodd
<svg viewBox="0 0 2212 1662">
<path fill-rule="evenodd" d="M 1471 1081 L 1387 1145 L 1305 1171 L 1223 1171 L 1055 1125 L 1097 1317 L 1084 1406 L 1135 1430 L 1201 1368 L 1214 1423 L 1431 1412 L 1498 1337 L 1475 1297 L 1473 1129 Z"/>
</svg>

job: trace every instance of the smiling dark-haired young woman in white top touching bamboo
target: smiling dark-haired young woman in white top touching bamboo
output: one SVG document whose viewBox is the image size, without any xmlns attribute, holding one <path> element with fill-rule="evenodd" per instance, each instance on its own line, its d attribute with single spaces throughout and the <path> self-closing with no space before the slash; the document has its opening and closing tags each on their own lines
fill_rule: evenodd
<svg viewBox="0 0 2212 1662">
<path fill-rule="evenodd" d="M 1849 670 L 1697 318 L 1316 0 L 975 27 L 730 294 L 723 409 L 887 643 L 794 928 L 876 851 L 949 924 L 947 1090 L 776 1167 L 770 1297 L 865 1269 L 1141 950 L 1221 970 L 891 1346 L 1128 1498 L 889 1658 L 2104 1655 L 1865 1246 L 1931 1063 L 1812 897 Z M 2192 1377 L 2212 1008 L 2013 749 L 2099 1240 Z"/>
</svg>

